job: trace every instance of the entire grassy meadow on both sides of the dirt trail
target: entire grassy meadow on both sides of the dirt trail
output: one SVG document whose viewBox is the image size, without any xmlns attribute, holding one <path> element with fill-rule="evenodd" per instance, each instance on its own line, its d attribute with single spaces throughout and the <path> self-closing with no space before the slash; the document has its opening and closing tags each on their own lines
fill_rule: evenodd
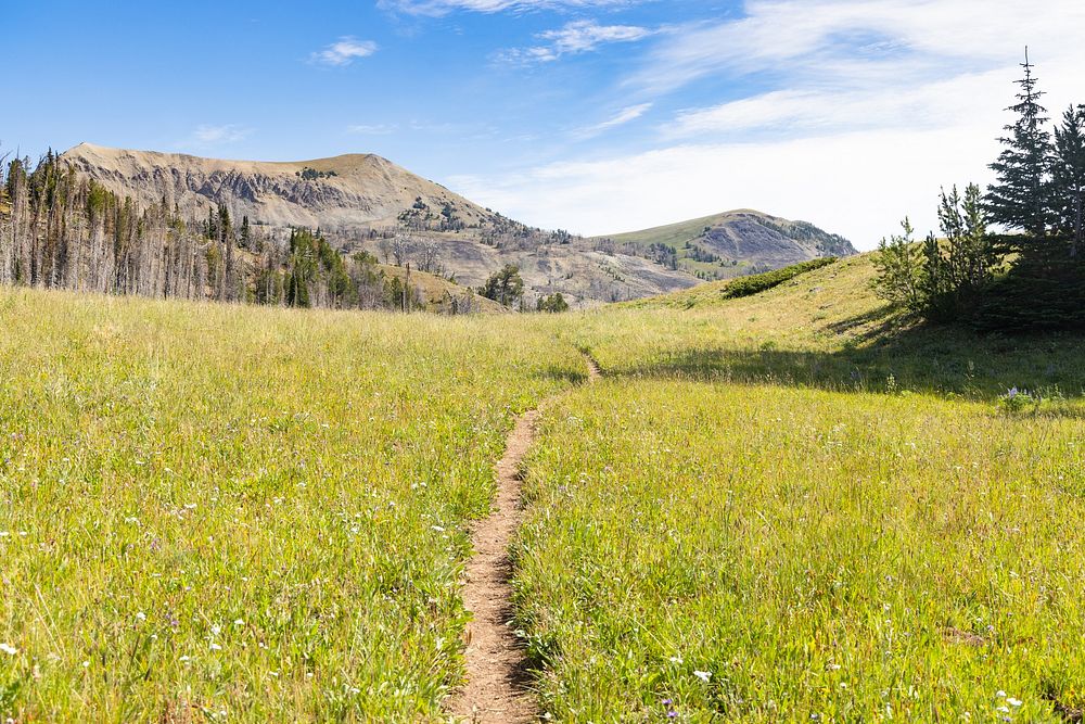
<svg viewBox="0 0 1085 724">
<path fill-rule="evenodd" d="M 467 319 L 0 290 L 0 714 L 441 717 L 549 398 L 514 554 L 553 719 L 1072 721 L 1085 341 L 916 328 L 870 275 Z"/>
</svg>

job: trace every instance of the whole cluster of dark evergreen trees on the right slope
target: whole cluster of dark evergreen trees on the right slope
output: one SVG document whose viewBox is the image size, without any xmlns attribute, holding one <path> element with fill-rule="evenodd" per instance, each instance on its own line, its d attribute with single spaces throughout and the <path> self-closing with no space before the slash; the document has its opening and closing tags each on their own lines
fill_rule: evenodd
<svg viewBox="0 0 1085 724">
<path fill-rule="evenodd" d="M 995 182 L 943 189 L 940 234 L 917 242 L 905 219 L 879 244 L 875 285 L 892 304 L 988 331 L 1085 329 L 1085 105 L 1052 132 L 1027 51 L 1021 67 Z"/>
</svg>

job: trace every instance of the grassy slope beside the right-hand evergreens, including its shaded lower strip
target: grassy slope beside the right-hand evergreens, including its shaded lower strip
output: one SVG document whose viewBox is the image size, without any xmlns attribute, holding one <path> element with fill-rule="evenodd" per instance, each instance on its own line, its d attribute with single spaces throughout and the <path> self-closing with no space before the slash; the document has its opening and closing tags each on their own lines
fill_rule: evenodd
<svg viewBox="0 0 1085 724">
<path fill-rule="evenodd" d="M 724 299 L 728 282 L 585 315 L 566 334 L 613 374 L 777 382 L 829 390 L 993 399 L 1085 390 L 1085 339 L 1005 338 L 924 327 L 878 300 L 869 255 L 766 292 Z"/>
</svg>

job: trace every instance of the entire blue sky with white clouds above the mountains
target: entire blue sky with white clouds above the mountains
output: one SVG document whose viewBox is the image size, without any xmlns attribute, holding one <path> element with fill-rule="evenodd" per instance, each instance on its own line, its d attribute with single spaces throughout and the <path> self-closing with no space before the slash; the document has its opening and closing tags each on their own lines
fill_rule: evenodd
<svg viewBox="0 0 1085 724">
<path fill-rule="evenodd" d="M 384 155 L 586 233 L 736 207 L 869 249 L 987 179 L 1023 46 L 1085 102 L 1076 0 L 2 0 L 3 149 Z"/>
</svg>

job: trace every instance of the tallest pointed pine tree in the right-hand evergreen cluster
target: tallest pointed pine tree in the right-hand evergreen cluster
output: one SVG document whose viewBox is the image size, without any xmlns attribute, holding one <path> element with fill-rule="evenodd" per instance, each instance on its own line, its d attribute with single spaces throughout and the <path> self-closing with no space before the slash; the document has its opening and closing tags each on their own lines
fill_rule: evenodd
<svg viewBox="0 0 1085 724">
<path fill-rule="evenodd" d="M 1047 109 L 1039 104 L 1043 92 L 1036 89 L 1033 65 L 1025 49 L 1024 77 L 1018 103 L 1007 109 L 1018 118 L 1006 126 L 1008 136 L 998 139 L 1005 147 L 990 168 L 998 180 L 987 190 L 984 204 L 991 220 L 1009 229 L 1020 229 L 1042 240 L 1050 221 L 1048 173 L 1051 158 L 1051 136 L 1045 128 Z"/>
</svg>

